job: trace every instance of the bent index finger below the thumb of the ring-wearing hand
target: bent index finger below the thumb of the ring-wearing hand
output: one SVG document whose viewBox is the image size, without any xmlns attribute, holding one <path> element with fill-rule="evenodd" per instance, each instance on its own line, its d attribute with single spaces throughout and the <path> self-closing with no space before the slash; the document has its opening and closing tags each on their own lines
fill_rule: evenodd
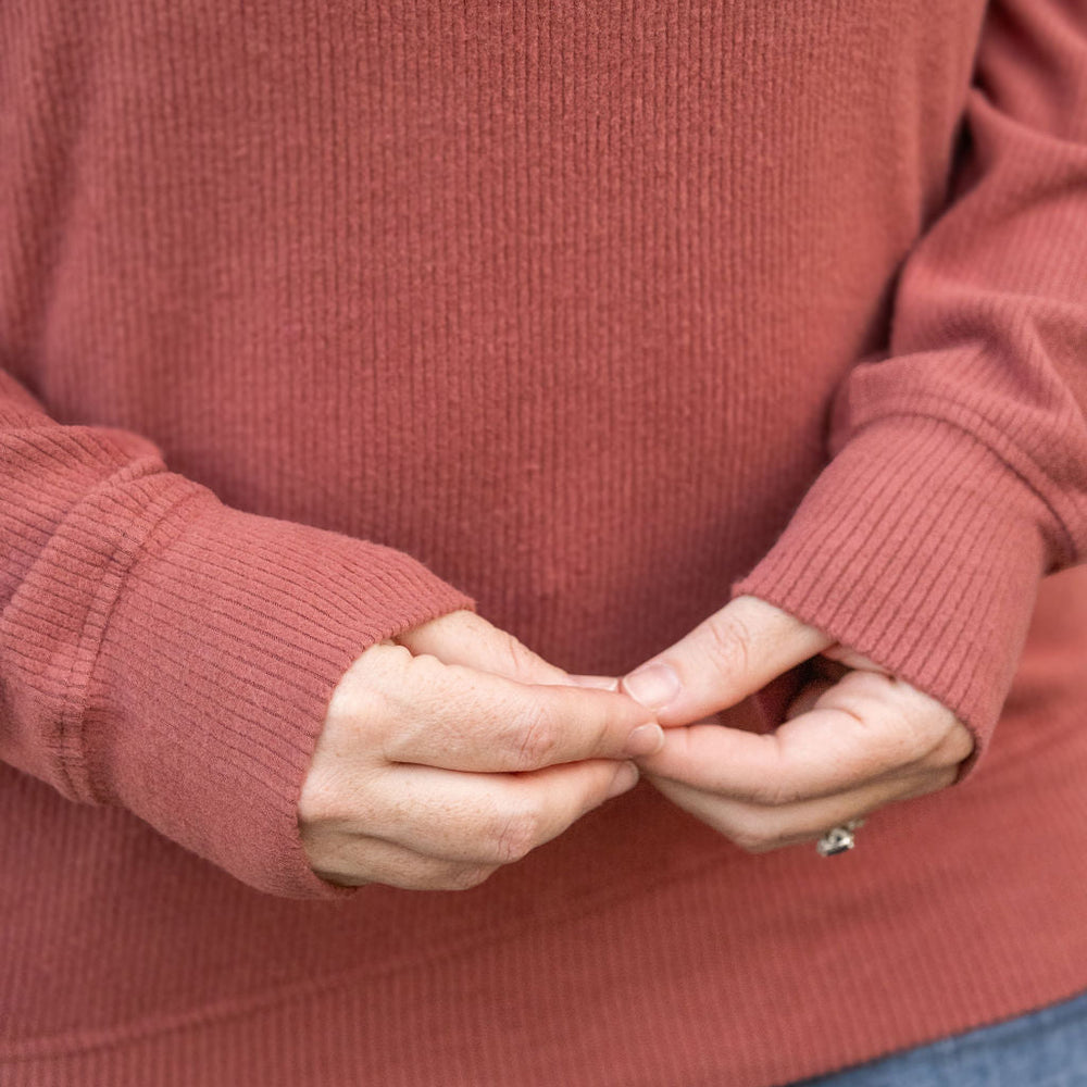
<svg viewBox="0 0 1087 1087">
<path fill-rule="evenodd" d="M 965 727 L 935 699 L 890 676 L 850 672 L 774 733 L 669 729 L 641 765 L 734 799 L 784 804 L 922 765 L 957 766 L 972 747 Z"/>
</svg>

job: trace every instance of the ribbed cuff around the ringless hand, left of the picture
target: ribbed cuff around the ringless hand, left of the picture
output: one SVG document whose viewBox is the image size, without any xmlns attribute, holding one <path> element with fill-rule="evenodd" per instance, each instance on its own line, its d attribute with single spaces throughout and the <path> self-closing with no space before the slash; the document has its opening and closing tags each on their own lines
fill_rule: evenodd
<svg viewBox="0 0 1087 1087">
<path fill-rule="evenodd" d="M 367 646 L 471 604 L 401 552 L 190 496 L 104 628 L 83 727 L 95 799 L 253 887 L 336 896 L 296 814 L 332 691 Z"/>
</svg>

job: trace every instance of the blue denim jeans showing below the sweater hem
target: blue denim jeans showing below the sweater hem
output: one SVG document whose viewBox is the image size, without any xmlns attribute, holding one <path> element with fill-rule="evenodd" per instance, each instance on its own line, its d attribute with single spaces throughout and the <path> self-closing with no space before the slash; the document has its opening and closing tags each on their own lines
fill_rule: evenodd
<svg viewBox="0 0 1087 1087">
<path fill-rule="evenodd" d="M 796 1087 L 1087 1087 L 1087 994 Z"/>
</svg>

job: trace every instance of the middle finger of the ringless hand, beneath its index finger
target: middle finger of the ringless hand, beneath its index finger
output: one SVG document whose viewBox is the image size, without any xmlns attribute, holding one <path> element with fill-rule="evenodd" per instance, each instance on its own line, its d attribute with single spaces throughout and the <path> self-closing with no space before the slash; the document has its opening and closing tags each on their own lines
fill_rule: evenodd
<svg viewBox="0 0 1087 1087">
<path fill-rule="evenodd" d="M 637 780 L 628 762 L 580 762 L 527 774 L 399 766 L 380 775 L 354 826 L 443 860 L 510 864 Z"/>
</svg>

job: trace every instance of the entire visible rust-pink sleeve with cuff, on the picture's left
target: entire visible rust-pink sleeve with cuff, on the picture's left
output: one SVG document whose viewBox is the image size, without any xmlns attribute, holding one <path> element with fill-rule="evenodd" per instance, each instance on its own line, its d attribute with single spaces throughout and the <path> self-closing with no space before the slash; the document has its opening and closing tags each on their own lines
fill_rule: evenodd
<svg viewBox="0 0 1087 1087">
<path fill-rule="evenodd" d="M 242 513 L 0 371 L 0 757 L 248 884 L 335 896 L 297 801 L 368 645 L 471 601 L 405 554 Z"/>
</svg>

